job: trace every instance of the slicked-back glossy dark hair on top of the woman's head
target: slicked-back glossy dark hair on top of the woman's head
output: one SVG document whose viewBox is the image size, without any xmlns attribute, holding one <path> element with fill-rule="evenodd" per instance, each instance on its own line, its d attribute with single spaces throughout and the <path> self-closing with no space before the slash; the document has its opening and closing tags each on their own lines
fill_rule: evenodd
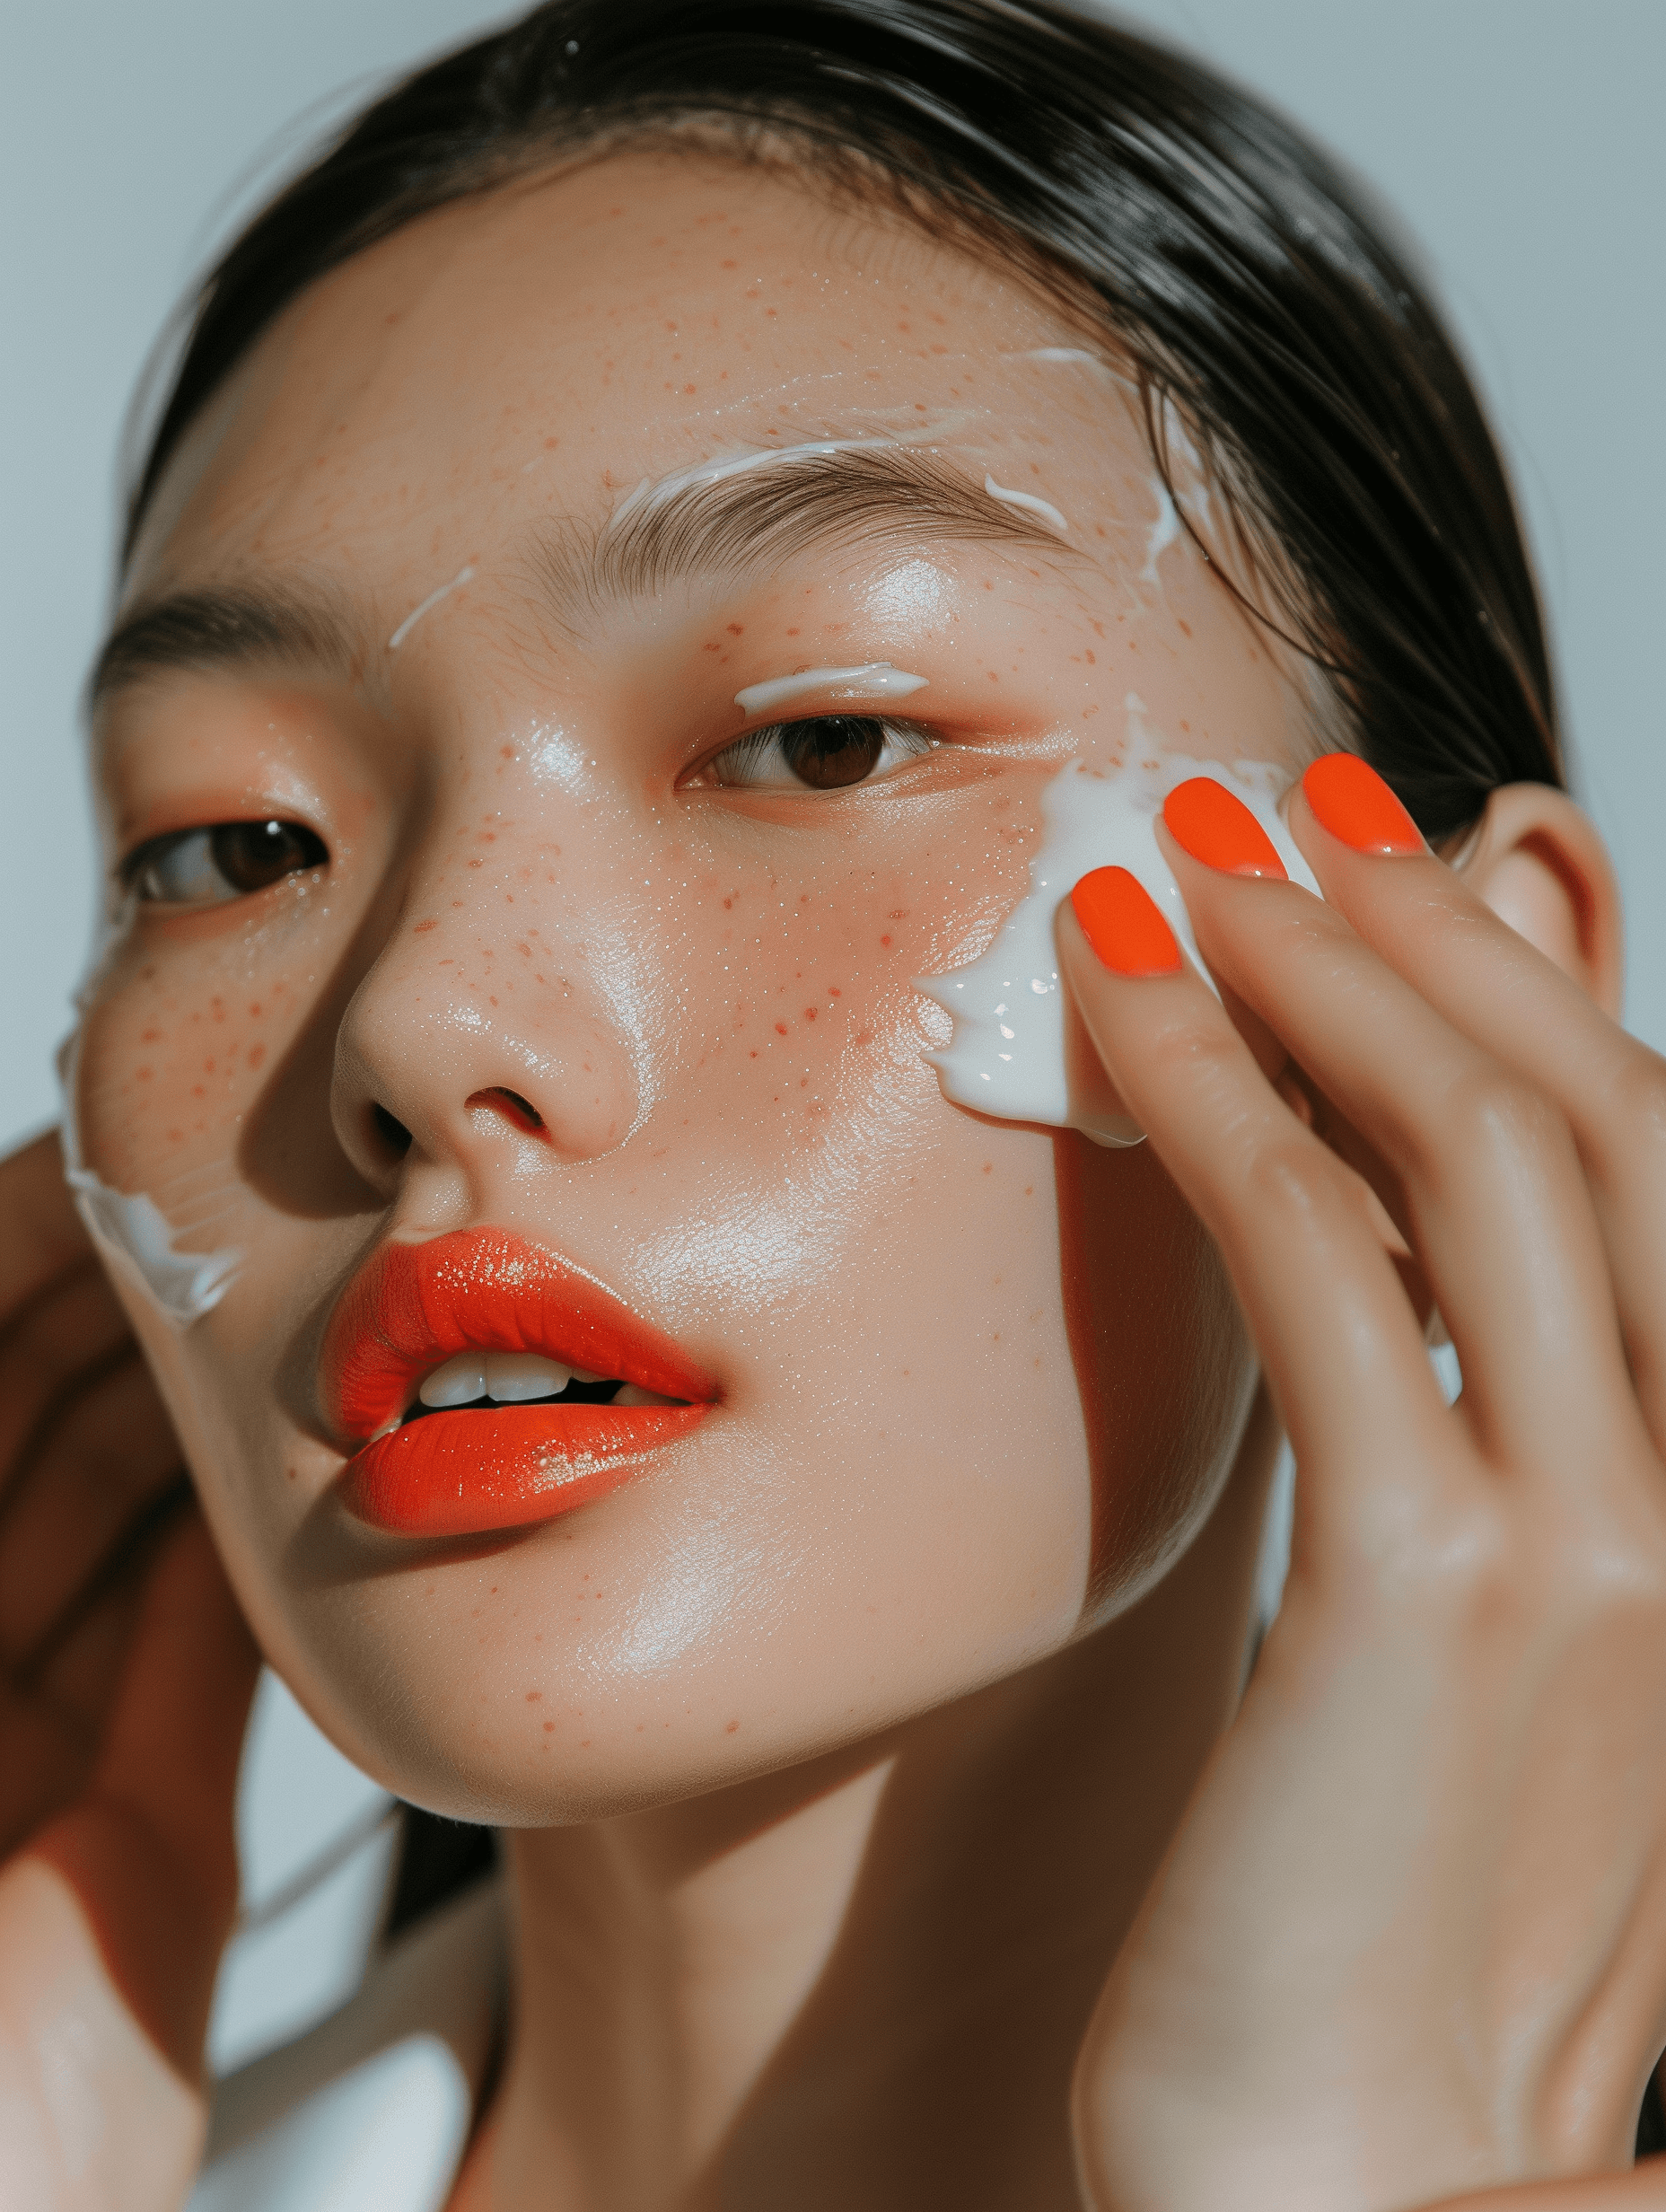
<svg viewBox="0 0 1666 2212">
<path fill-rule="evenodd" d="M 1102 319 L 1164 480 L 1173 403 L 1261 553 L 1261 619 L 1305 653 L 1330 739 L 1425 834 L 1465 830 L 1500 783 L 1562 781 L 1509 484 L 1405 254 L 1248 93 L 1047 0 L 546 0 L 418 71 L 208 276 L 128 546 L 190 418 L 325 270 L 529 166 L 701 124 L 743 159 L 785 148 L 993 237 Z"/>
</svg>

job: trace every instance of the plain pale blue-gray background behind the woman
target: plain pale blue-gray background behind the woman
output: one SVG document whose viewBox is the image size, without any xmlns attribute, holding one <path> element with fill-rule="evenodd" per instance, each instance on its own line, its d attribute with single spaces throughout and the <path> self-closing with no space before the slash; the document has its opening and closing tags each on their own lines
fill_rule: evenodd
<svg viewBox="0 0 1666 2212">
<path fill-rule="evenodd" d="M 1666 1048 L 1659 743 L 1666 431 L 1662 0 L 1146 0 L 1124 9 L 1259 86 L 1423 241 L 1502 436 L 1560 646 L 1580 790 L 1631 909 L 1631 1022 Z M 93 900 L 75 699 L 108 580 L 122 416 L 173 301 L 263 186 L 412 60 L 496 20 L 467 0 L 44 0 L 0 53 L 0 1148 L 55 1113 Z M 374 1823 L 268 1677 L 246 1887 Z M 237 1947 L 223 2066 L 350 1986 L 385 1865 Z"/>
</svg>

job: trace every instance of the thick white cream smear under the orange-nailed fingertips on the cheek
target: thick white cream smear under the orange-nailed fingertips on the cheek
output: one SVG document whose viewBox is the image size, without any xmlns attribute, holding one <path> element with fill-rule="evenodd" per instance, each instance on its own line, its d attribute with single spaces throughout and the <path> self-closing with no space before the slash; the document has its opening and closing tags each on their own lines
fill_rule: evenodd
<svg viewBox="0 0 1666 2212">
<path fill-rule="evenodd" d="M 1128 699 L 1131 719 L 1139 701 Z M 1000 1121 L 1042 1121 L 1080 1128 L 1095 1144 L 1139 1144 L 1137 1121 L 1095 1097 L 1097 1064 L 1069 1051 L 1064 991 L 1053 947 L 1060 900 L 1095 867 L 1126 867 L 1157 900 L 1162 916 L 1186 947 L 1204 982 L 1190 916 L 1179 885 L 1157 847 L 1155 823 L 1164 799 L 1188 776 L 1212 776 L 1243 801 L 1279 849 L 1292 883 L 1319 894 L 1279 814 L 1290 770 L 1268 761 L 1190 761 L 1168 752 L 1157 761 L 1104 768 L 1069 761 L 1042 792 L 1044 834 L 1029 865 L 1029 891 L 1000 927 L 989 951 L 949 975 L 916 978 L 916 991 L 954 1015 L 954 1040 L 925 1057 L 938 1071 L 943 1095 Z M 1086 1064 L 1077 1064 L 1086 1060 Z M 1100 1088 L 1104 1088 L 1100 1084 Z"/>
</svg>

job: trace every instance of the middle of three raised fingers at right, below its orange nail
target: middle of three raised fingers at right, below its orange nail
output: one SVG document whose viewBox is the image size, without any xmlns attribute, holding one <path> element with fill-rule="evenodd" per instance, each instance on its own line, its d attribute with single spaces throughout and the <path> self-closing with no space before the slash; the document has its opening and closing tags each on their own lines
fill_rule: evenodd
<svg viewBox="0 0 1666 2212">
<path fill-rule="evenodd" d="M 1336 909 L 1290 883 L 1206 867 L 1162 836 L 1210 969 L 1398 1179 L 1482 1449 L 1560 1480 L 1580 1478 L 1591 1455 L 1635 1464 L 1648 1444 L 1608 1259 L 1555 1106 L 1454 1029 Z"/>
</svg>

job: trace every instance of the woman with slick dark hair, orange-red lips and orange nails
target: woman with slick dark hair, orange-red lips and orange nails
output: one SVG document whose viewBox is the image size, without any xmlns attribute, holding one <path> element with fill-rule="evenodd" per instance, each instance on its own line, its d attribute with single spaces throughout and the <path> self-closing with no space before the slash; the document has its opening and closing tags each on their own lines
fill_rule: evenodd
<svg viewBox="0 0 1666 2212">
<path fill-rule="evenodd" d="M 458 2208 L 1666 2201 L 1659 1064 L 1316 155 L 1049 9 L 538 9 L 210 283 L 95 748 L 124 1321 L 7 1170 L 18 2201 L 190 2183 L 243 1621 L 504 1829 Z M 1066 770 L 1173 787 L 1219 982 L 1049 902 L 1148 1144 L 923 1064 Z"/>
</svg>

